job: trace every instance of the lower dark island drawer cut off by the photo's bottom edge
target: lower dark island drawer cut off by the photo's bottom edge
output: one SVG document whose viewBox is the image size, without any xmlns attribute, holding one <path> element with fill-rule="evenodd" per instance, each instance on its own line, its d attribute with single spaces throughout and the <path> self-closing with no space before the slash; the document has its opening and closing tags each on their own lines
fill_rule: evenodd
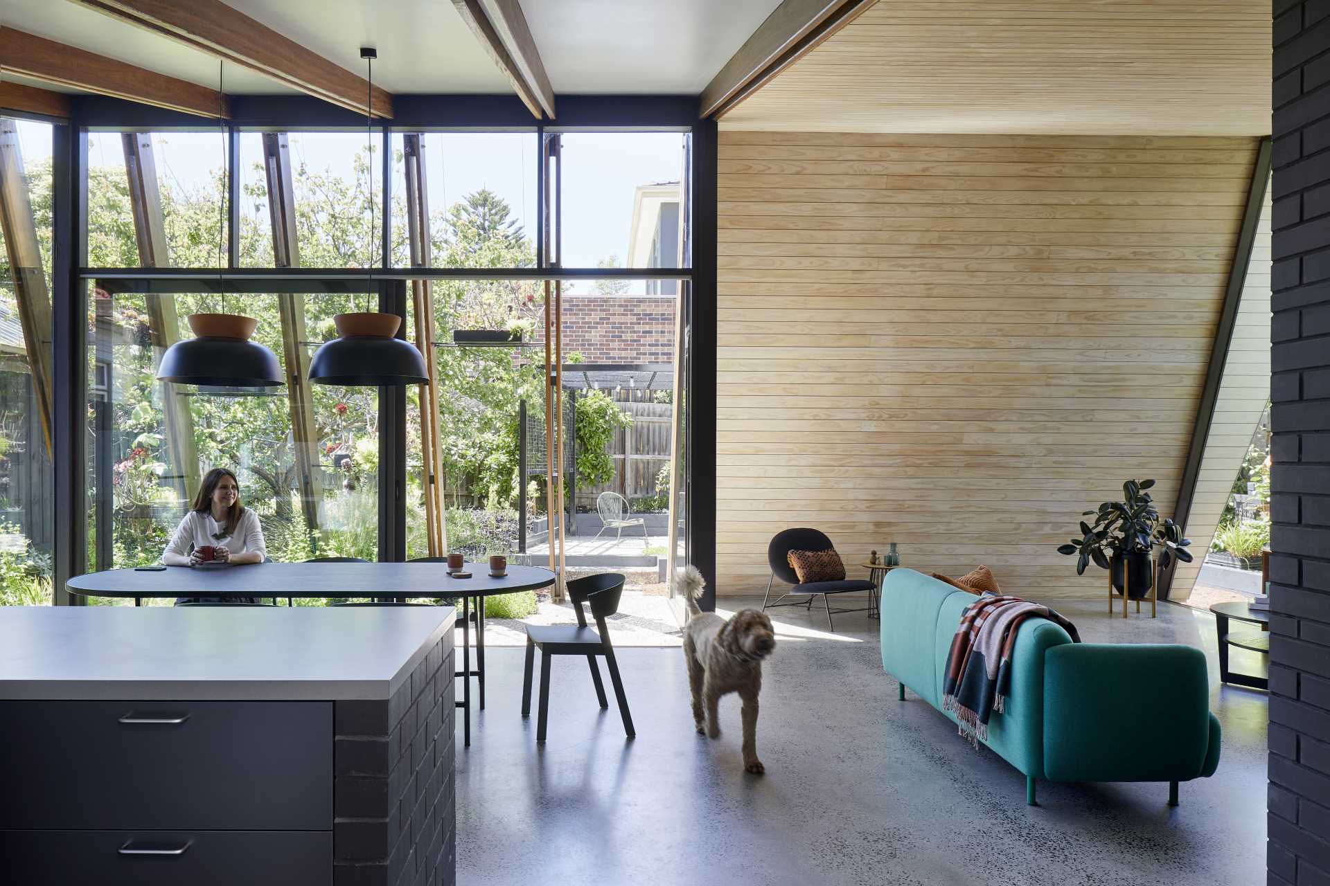
<svg viewBox="0 0 1330 886">
<path fill-rule="evenodd" d="M 9 830 L 0 859 L 15 886 L 329 886 L 332 834 Z"/>
</svg>

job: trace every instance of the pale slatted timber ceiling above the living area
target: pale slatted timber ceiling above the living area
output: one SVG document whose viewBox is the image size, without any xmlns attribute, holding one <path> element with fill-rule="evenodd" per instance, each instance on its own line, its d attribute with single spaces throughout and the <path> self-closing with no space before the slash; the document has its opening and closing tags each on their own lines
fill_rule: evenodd
<svg viewBox="0 0 1330 886">
<path fill-rule="evenodd" d="M 722 129 L 1261 135 L 1269 0 L 882 0 Z"/>
</svg>

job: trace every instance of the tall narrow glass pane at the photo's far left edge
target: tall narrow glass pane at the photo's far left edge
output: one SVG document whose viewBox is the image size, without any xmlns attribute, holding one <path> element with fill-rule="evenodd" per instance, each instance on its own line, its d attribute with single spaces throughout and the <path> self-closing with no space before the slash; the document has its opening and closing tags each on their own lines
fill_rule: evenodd
<svg viewBox="0 0 1330 886">
<path fill-rule="evenodd" d="M 52 602 L 51 145 L 0 118 L 0 604 Z M 5 231 L 11 238 L 5 238 Z"/>
</svg>

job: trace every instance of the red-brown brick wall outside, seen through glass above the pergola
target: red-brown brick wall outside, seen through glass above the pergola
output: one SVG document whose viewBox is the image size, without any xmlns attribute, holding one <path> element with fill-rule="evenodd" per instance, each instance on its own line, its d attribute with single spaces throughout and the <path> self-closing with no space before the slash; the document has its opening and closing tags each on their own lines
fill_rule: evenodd
<svg viewBox="0 0 1330 886">
<path fill-rule="evenodd" d="M 587 363 L 672 363 L 674 298 L 564 295 L 564 353 L 573 351 Z"/>
</svg>

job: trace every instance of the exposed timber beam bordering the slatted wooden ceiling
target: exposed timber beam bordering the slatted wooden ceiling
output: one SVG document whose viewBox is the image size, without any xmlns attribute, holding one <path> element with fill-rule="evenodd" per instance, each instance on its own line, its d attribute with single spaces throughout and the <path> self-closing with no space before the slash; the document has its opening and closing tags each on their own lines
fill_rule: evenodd
<svg viewBox="0 0 1330 886">
<path fill-rule="evenodd" d="M 876 0 L 783 0 L 702 90 L 698 117 L 722 116 Z"/>
</svg>

